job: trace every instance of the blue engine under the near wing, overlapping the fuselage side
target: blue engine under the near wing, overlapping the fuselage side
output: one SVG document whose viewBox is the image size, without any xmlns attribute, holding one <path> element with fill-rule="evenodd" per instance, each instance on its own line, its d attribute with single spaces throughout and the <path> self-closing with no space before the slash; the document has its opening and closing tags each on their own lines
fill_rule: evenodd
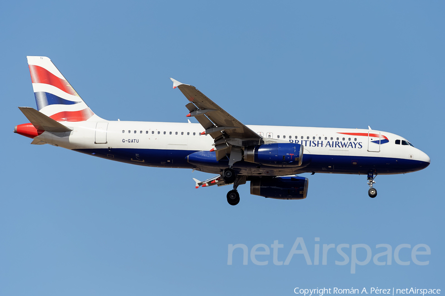
<svg viewBox="0 0 445 296">
<path fill-rule="evenodd" d="M 244 160 L 270 166 L 301 166 L 303 145 L 294 143 L 264 144 L 244 149 Z"/>
</svg>

